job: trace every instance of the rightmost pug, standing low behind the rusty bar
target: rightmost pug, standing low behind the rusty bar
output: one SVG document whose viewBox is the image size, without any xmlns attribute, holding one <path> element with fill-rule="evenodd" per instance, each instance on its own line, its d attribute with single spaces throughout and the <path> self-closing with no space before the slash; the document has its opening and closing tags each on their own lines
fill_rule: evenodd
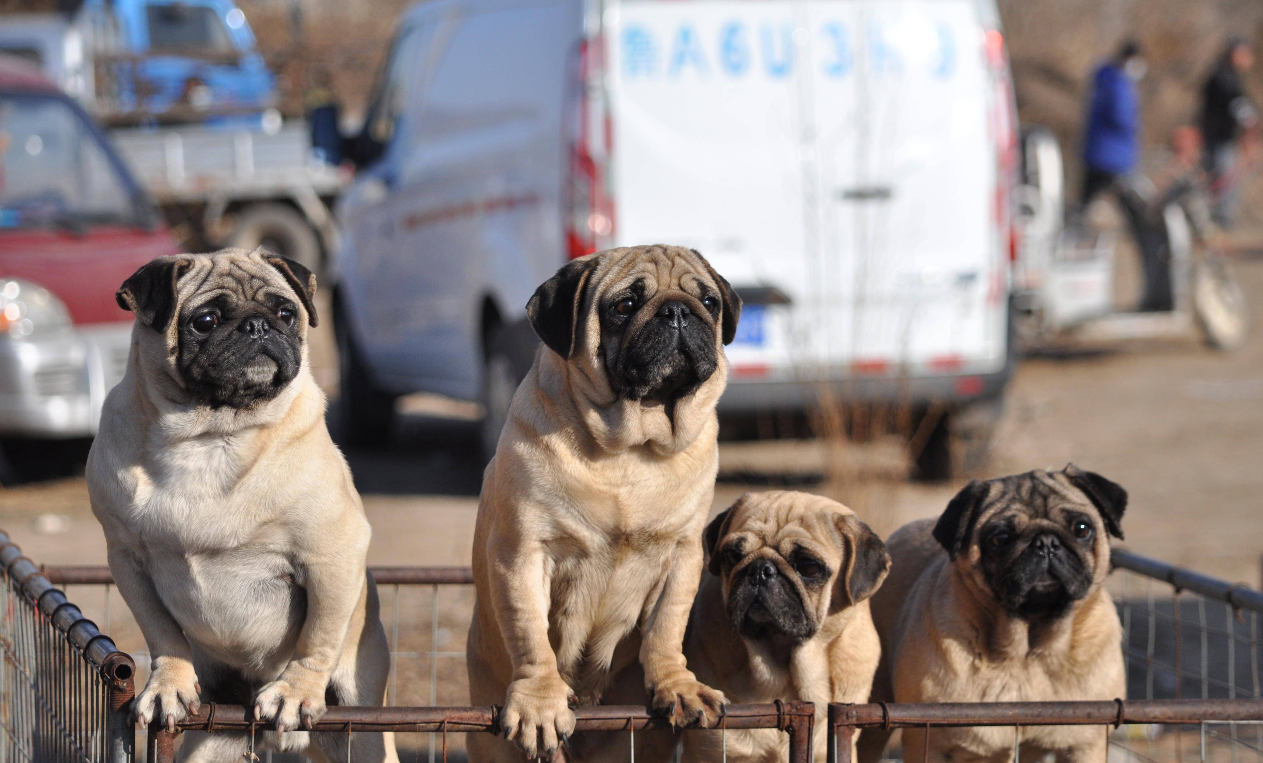
<svg viewBox="0 0 1263 763">
<path fill-rule="evenodd" d="M 1122 627 L 1105 591 L 1110 536 L 1123 537 L 1127 491 L 1074 464 L 971 481 L 937 522 L 904 526 L 887 547 L 893 572 L 873 598 L 882 637 L 874 701 L 1008 702 L 1125 696 Z M 865 730 L 861 763 L 889 733 Z M 1012 726 L 933 729 L 928 760 L 1005 760 Z M 921 760 L 926 731 L 904 729 Z M 1096 726 L 1027 726 L 1022 760 L 1105 759 Z"/>
</svg>

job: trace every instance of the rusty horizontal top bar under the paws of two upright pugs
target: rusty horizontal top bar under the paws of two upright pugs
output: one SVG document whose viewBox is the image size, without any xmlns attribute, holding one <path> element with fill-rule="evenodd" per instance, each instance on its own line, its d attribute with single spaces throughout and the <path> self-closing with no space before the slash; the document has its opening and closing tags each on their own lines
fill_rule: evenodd
<svg viewBox="0 0 1263 763">
<path fill-rule="evenodd" d="M 495 731 L 499 729 L 499 707 L 330 707 L 313 731 Z M 815 718 L 811 702 L 778 702 L 770 705 L 729 705 L 724 725 L 729 729 L 786 729 L 793 720 Z M 240 705 L 203 704 L 196 715 L 179 724 L 183 730 L 227 731 L 268 730 L 273 724 L 251 723 Z M 671 724 L 664 716 L 639 705 L 600 705 L 577 707 L 575 729 L 578 731 L 626 731 L 662 729 Z M 213 723 L 213 725 L 212 725 Z"/>
</svg>

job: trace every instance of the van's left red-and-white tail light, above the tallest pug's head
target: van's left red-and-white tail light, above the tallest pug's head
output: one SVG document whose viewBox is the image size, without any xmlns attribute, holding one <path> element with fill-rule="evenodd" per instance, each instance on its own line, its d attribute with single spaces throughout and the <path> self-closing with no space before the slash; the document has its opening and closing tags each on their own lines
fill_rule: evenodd
<svg viewBox="0 0 1263 763">
<path fill-rule="evenodd" d="M 601 88 L 604 64 L 604 38 L 584 40 L 571 99 L 573 131 L 566 177 L 566 254 L 570 259 L 605 249 L 614 240 L 614 200 L 609 189 L 613 128 Z"/>
</svg>

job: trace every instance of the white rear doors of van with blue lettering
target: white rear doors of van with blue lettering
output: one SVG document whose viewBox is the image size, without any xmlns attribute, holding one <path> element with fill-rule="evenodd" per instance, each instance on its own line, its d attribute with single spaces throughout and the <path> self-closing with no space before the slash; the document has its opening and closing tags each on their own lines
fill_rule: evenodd
<svg viewBox="0 0 1263 763">
<path fill-rule="evenodd" d="M 608 18 L 618 241 L 696 246 L 789 299 L 748 311 L 735 380 L 1003 368 L 998 88 L 973 0 Z"/>
</svg>

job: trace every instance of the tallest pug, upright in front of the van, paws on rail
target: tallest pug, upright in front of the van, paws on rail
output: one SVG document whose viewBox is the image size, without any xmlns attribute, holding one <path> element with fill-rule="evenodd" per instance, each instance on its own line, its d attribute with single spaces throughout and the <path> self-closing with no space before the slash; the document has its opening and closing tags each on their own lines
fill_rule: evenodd
<svg viewBox="0 0 1263 763">
<path fill-rule="evenodd" d="M 682 648 L 740 309 L 698 253 L 663 245 L 572 260 L 527 304 L 543 344 L 482 478 L 467 644 L 471 700 L 504 705 L 505 738 L 471 735 L 471 759 L 560 759 L 576 702 L 719 720 Z M 628 750 L 596 734 L 565 754 Z"/>
</svg>

